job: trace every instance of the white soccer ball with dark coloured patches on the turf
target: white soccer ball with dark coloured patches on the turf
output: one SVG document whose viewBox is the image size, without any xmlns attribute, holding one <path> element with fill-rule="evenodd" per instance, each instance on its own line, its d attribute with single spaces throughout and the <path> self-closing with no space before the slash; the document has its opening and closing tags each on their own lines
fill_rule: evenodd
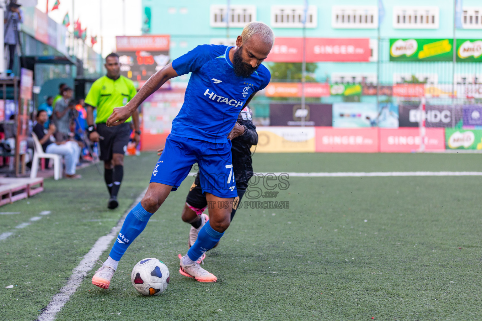
<svg viewBox="0 0 482 321">
<path fill-rule="evenodd" d="M 134 265 L 131 281 L 140 294 L 159 295 L 169 283 L 169 269 L 157 258 L 147 257 Z"/>
</svg>

